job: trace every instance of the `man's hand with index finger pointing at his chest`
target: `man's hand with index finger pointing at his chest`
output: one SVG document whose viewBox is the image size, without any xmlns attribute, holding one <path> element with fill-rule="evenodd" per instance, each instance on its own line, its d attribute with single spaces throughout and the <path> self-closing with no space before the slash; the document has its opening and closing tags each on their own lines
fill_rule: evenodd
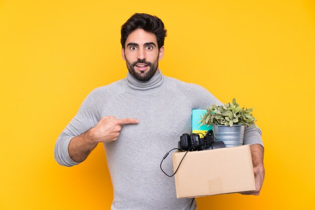
<svg viewBox="0 0 315 210">
<path fill-rule="evenodd" d="M 116 119 L 114 116 L 105 116 L 91 129 L 92 138 L 95 142 L 116 141 L 122 125 L 137 124 L 138 122 L 137 119 Z"/>
</svg>

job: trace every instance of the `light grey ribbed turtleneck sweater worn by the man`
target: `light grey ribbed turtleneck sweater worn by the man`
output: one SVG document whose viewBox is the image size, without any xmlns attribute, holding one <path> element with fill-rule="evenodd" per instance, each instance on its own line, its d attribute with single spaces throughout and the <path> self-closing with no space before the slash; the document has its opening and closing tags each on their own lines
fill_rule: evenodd
<svg viewBox="0 0 315 210">
<path fill-rule="evenodd" d="M 111 209 L 195 209 L 192 198 L 176 198 L 174 177 L 160 169 L 164 155 L 191 133 L 191 111 L 221 104 L 205 88 L 163 76 L 159 70 L 147 82 L 127 78 L 94 89 L 62 131 L 55 145 L 60 165 L 79 164 L 69 157 L 69 141 L 94 127 L 104 116 L 136 118 L 124 125 L 117 141 L 104 143 L 114 189 Z M 244 144 L 262 144 L 259 129 L 247 128 Z M 173 172 L 172 156 L 163 162 Z"/>
</svg>

